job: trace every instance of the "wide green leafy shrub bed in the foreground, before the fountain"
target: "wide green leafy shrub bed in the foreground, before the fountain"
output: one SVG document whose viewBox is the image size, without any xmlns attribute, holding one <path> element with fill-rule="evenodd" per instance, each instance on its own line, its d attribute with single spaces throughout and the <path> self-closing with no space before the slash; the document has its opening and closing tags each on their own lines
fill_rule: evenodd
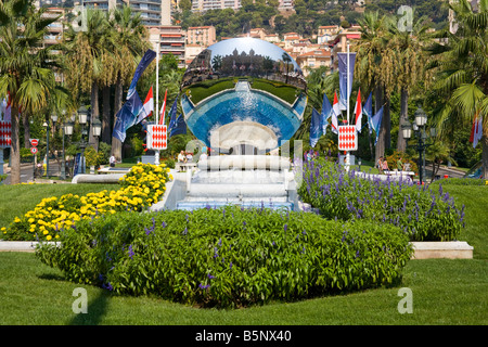
<svg viewBox="0 0 488 347">
<path fill-rule="evenodd" d="M 60 236 L 36 254 L 72 281 L 219 307 L 395 285 L 412 252 L 396 227 L 236 206 L 106 215 Z"/>
</svg>

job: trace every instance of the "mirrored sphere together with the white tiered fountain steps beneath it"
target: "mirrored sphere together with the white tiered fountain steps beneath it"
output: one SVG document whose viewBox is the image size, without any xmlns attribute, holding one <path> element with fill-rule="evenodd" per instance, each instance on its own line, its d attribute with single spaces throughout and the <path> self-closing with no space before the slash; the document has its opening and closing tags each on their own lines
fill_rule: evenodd
<svg viewBox="0 0 488 347">
<path fill-rule="evenodd" d="M 288 140 L 303 121 L 306 81 L 285 51 L 254 38 L 215 43 L 189 65 L 180 101 L 198 139 L 193 147 L 211 150 L 194 171 L 175 172 L 154 210 L 226 204 L 298 209 Z M 301 156 L 301 147 L 294 151 Z"/>
</svg>

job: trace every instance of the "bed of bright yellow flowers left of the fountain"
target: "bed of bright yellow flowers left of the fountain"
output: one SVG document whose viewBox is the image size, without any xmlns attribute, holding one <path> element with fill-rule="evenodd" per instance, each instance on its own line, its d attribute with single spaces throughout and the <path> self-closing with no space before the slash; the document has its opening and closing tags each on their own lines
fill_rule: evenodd
<svg viewBox="0 0 488 347">
<path fill-rule="evenodd" d="M 120 178 L 117 191 L 43 198 L 33 210 L 15 217 L 9 228 L 1 230 L 8 240 L 57 239 L 60 230 L 74 227 L 78 220 L 150 207 L 163 196 L 168 180 L 172 177 L 164 164 L 140 163 Z"/>
</svg>

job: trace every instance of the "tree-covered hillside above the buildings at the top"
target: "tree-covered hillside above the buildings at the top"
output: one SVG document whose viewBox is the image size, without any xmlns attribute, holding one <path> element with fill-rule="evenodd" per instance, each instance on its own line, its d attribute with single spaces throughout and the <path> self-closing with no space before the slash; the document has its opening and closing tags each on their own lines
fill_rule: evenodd
<svg viewBox="0 0 488 347">
<path fill-rule="evenodd" d="M 213 25 L 217 37 L 234 37 L 247 33 L 251 28 L 265 28 L 269 34 L 283 35 L 298 33 L 310 37 L 321 25 L 341 25 L 343 21 L 349 24 L 358 23 L 362 12 L 378 12 L 394 14 L 399 4 L 394 0 L 370 0 L 363 8 L 358 8 L 350 0 L 295 0 L 295 11 L 280 12 L 277 0 L 243 0 L 242 8 L 210 10 L 203 13 L 192 12 L 191 2 L 180 3 L 180 9 L 174 14 L 175 24 L 183 29 L 190 26 Z M 415 9 L 419 16 L 427 16 L 435 27 L 441 27 L 448 15 L 442 0 L 406 0 L 401 4 Z"/>
</svg>

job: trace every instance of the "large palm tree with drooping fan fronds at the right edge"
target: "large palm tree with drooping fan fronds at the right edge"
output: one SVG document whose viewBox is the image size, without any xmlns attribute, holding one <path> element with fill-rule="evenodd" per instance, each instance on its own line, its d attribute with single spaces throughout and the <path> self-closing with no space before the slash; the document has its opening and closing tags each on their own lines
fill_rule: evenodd
<svg viewBox="0 0 488 347">
<path fill-rule="evenodd" d="M 436 61 L 434 92 L 444 101 L 437 114 L 439 130 L 450 124 L 471 127 L 475 116 L 483 117 L 481 162 L 488 178 L 488 0 L 480 0 L 475 12 L 467 0 L 450 3 L 458 30 L 441 31 L 447 43 L 434 43 Z"/>
</svg>

